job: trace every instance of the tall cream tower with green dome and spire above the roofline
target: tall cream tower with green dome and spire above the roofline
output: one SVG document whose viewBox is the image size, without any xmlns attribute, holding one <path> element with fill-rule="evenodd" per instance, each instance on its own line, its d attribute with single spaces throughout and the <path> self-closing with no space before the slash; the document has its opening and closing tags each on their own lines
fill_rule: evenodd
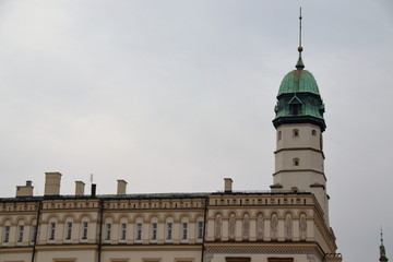
<svg viewBox="0 0 393 262">
<path fill-rule="evenodd" d="M 324 105 L 313 75 L 305 70 L 301 52 L 300 12 L 299 58 L 296 69 L 285 75 L 277 95 L 275 171 L 272 190 L 311 192 L 321 205 L 326 224 L 329 207 L 322 133 Z"/>
</svg>

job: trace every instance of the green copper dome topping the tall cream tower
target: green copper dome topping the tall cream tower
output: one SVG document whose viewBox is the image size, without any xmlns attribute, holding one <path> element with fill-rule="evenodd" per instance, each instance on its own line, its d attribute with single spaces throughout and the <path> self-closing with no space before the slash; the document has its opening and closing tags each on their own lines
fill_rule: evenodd
<svg viewBox="0 0 393 262">
<path fill-rule="evenodd" d="M 303 68 L 299 51 L 296 70 L 285 75 L 279 85 L 273 124 L 277 128 L 285 123 L 313 123 L 323 132 L 326 128 L 324 105 L 315 79 Z"/>
</svg>

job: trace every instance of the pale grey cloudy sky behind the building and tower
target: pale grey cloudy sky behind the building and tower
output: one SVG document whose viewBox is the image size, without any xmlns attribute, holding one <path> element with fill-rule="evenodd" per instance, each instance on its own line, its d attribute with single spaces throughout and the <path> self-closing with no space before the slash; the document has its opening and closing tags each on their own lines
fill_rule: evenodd
<svg viewBox="0 0 393 262">
<path fill-rule="evenodd" d="M 390 0 L 0 0 L 0 196 L 267 190 L 300 4 L 338 251 L 377 261 L 382 225 L 393 260 Z"/>
</svg>

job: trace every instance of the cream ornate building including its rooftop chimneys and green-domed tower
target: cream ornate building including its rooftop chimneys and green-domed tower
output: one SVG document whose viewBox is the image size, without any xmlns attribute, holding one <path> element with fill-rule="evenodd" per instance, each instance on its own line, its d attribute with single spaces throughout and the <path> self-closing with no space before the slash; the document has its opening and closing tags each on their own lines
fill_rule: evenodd
<svg viewBox="0 0 393 262">
<path fill-rule="evenodd" d="M 224 179 L 212 193 L 60 195 L 47 172 L 0 199 L 0 262 L 340 262 L 329 225 L 322 133 L 324 106 L 301 60 L 282 81 L 273 184 L 238 192 Z"/>
</svg>

